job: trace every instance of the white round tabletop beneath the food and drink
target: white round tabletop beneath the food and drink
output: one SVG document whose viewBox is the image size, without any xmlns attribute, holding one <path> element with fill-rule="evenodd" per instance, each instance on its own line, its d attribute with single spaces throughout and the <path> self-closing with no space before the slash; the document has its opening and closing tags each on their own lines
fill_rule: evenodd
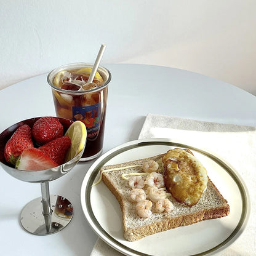
<svg viewBox="0 0 256 256">
<path fill-rule="evenodd" d="M 103 153 L 136 140 L 146 114 L 256 126 L 256 97 L 238 87 L 184 70 L 151 65 L 105 65 L 112 74 L 108 92 Z M 15 122 L 55 116 L 47 74 L 0 91 L 0 132 Z M 18 221 L 27 202 L 41 195 L 39 184 L 16 180 L 0 167 L 1 255 L 89 255 L 97 235 L 80 204 L 81 183 L 93 162 L 78 164 L 50 182 L 51 194 L 73 202 L 74 217 L 64 230 L 49 236 L 26 233 Z"/>
</svg>

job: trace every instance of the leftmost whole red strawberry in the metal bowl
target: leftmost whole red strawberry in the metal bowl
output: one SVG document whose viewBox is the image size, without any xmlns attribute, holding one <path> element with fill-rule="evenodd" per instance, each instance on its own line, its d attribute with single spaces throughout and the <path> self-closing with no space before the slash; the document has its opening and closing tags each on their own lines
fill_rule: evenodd
<svg viewBox="0 0 256 256">
<path fill-rule="evenodd" d="M 18 156 L 22 154 L 25 148 L 33 148 L 33 142 L 31 138 L 31 128 L 30 126 L 23 124 L 23 126 L 18 127 L 14 132 L 12 137 L 6 143 L 4 147 L 4 158 L 7 162 L 15 165 Z"/>
</svg>

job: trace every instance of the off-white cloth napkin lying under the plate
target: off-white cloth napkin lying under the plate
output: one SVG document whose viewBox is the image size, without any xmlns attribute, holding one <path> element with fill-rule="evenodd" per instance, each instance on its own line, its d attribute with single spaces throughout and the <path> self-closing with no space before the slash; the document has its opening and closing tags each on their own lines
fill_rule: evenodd
<svg viewBox="0 0 256 256">
<path fill-rule="evenodd" d="M 256 255 L 256 130 L 255 127 L 218 124 L 148 114 L 139 138 L 172 138 L 196 145 L 222 156 L 243 178 L 249 190 L 251 212 L 247 228 L 221 256 Z M 119 252 L 98 239 L 91 256 L 121 256 Z"/>
</svg>

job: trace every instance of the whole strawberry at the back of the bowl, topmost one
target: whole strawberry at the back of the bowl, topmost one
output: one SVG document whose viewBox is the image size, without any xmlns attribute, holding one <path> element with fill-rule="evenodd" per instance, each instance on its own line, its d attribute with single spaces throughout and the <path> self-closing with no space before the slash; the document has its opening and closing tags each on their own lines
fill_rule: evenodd
<svg viewBox="0 0 256 256">
<path fill-rule="evenodd" d="M 63 126 L 57 118 L 46 116 L 38 119 L 32 127 L 32 136 L 39 145 L 63 136 Z"/>
</svg>

